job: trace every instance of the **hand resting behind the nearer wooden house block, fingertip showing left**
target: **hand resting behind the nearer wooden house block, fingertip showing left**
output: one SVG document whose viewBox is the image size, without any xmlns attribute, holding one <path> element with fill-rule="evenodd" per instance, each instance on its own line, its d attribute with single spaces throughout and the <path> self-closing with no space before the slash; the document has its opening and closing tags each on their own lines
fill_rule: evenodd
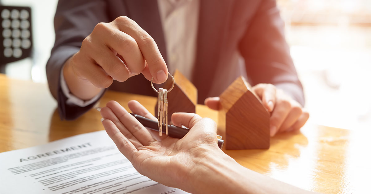
<svg viewBox="0 0 371 194">
<path fill-rule="evenodd" d="M 263 106 L 271 113 L 270 136 L 299 130 L 309 118 L 309 113 L 298 102 L 272 84 L 257 84 L 252 87 L 252 91 L 259 96 Z M 220 110 L 219 101 L 219 97 L 207 98 L 205 105 L 210 109 Z"/>
</svg>

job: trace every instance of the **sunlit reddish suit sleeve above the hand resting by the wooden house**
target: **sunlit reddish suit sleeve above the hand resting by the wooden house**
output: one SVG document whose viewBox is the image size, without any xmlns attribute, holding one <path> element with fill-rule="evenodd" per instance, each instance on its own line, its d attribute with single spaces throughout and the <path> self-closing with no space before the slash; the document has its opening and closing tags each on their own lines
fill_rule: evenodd
<svg viewBox="0 0 371 194">
<path fill-rule="evenodd" d="M 250 84 L 273 84 L 304 105 L 303 87 L 290 57 L 275 0 L 262 0 L 239 49 Z"/>
</svg>

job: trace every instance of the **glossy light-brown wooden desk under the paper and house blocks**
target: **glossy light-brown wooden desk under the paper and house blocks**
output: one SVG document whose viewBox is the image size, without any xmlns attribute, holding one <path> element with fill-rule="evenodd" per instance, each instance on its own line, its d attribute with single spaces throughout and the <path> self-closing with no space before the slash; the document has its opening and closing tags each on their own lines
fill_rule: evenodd
<svg viewBox="0 0 371 194">
<path fill-rule="evenodd" d="M 154 112 L 156 98 L 109 91 L 101 106 L 116 100 L 125 108 L 136 99 Z M 61 121 L 57 103 L 45 84 L 0 75 L 0 152 L 104 129 L 98 111 Z M 217 122 L 217 112 L 196 111 Z M 366 193 L 370 180 L 370 130 L 336 129 L 307 124 L 301 133 L 271 139 L 268 150 L 224 150 L 243 166 L 300 188 L 323 193 Z"/>
</svg>

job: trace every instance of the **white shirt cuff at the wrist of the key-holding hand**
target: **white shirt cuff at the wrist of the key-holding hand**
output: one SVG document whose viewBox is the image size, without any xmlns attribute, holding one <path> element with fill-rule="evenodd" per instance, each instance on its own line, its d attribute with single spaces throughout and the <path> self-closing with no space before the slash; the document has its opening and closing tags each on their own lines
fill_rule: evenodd
<svg viewBox="0 0 371 194">
<path fill-rule="evenodd" d="M 102 93 L 104 92 L 104 89 L 102 89 L 96 96 L 94 96 L 92 99 L 90 99 L 88 101 L 84 101 L 84 100 L 76 97 L 75 95 L 70 93 L 70 91 L 68 89 L 68 86 L 67 86 L 67 83 L 66 83 L 66 80 L 65 80 L 65 76 L 63 75 L 63 68 L 64 68 L 64 66 L 62 67 L 62 71 L 60 71 L 60 88 L 62 89 L 63 94 L 67 97 L 67 102 L 66 102 L 67 105 L 76 105 L 76 106 L 80 106 L 80 107 L 85 107 L 85 106 L 91 105 L 93 102 L 98 100 L 99 96 L 101 96 Z"/>
</svg>

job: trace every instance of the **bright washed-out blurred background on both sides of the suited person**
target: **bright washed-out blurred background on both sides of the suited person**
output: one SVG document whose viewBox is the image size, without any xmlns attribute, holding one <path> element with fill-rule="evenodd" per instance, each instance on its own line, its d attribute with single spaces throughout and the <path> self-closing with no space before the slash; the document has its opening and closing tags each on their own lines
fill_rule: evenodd
<svg viewBox="0 0 371 194">
<path fill-rule="evenodd" d="M 31 7 L 33 52 L 9 63 L 15 79 L 46 83 L 57 0 L 1 0 Z M 305 89 L 309 122 L 371 129 L 371 0 L 278 0 L 286 39 Z"/>
</svg>

